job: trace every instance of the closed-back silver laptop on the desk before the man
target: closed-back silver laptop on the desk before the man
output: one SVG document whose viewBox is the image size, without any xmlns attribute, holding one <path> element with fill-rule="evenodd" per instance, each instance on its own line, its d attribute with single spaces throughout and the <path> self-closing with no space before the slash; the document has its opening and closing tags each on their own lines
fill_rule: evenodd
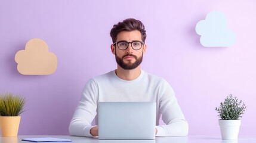
<svg viewBox="0 0 256 143">
<path fill-rule="evenodd" d="M 155 139 L 156 102 L 98 102 L 98 139 Z"/>
</svg>

